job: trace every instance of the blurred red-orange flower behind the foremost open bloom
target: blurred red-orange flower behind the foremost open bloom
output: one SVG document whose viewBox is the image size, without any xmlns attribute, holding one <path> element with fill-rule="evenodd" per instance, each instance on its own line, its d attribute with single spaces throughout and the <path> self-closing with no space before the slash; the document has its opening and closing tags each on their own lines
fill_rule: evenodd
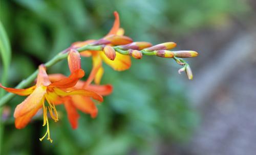
<svg viewBox="0 0 256 155">
<path fill-rule="evenodd" d="M 76 62 L 80 61 L 78 57 L 76 59 L 77 59 Z M 74 64 L 74 63 L 69 62 L 69 64 Z M 80 67 L 79 65 L 69 65 L 69 66 L 70 66 L 71 73 Z M 74 87 L 65 88 L 62 90 L 69 92 L 69 91 L 84 89 L 87 91 L 95 92 L 103 96 L 109 95 L 110 93 L 112 93 L 111 85 L 91 85 L 90 84 L 93 81 L 95 74 L 96 74 L 96 70 L 90 73 L 87 81 L 84 82 L 79 80 Z M 66 78 L 67 77 L 62 74 L 49 75 L 49 79 L 53 83 Z M 55 102 L 56 105 L 62 104 L 62 103 L 64 104 L 65 109 L 67 110 L 68 118 L 73 129 L 77 128 L 78 126 L 79 114 L 76 109 L 82 111 L 83 113 L 90 114 L 92 118 L 95 118 L 98 114 L 98 109 L 95 106 L 94 101 L 88 96 L 72 94 L 68 96 L 63 96 L 58 100 L 58 102 Z"/>
</svg>

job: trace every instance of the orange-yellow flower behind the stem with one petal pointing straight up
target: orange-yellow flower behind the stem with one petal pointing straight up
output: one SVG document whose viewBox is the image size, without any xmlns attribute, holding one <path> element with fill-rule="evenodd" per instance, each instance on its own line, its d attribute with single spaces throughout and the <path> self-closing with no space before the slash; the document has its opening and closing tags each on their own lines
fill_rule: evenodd
<svg viewBox="0 0 256 155">
<path fill-rule="evenodd" d="M 120 28 L 119 15 L 117 12 L 114 12 L 115 21 L 110 32 L 102 39 L 98 41 L 110 41 L 110 44 L 123 45 L 129 44 L 132 42 L 129 37 L 122 36 L 124 30 Z M 112 42 L 111 42 L 112 41 Z M 93 43 L 95 40 L 87 40 L 82 42 L 75 42 L 72 44 L 73 48 L 79 48 L 81 46 Z M 111 66 L 114 70 L 123 71 L 131 67 L 131 58 L 130 56 L 122 55 L 116 52 L 115 59 L 110 60 L 102 51 L 91 51 L 86 50 L 82 51 L 81 56 L 93 58 L 93 71 L 96 71 L 94 82 L 96 84 L 100 83 L 101 77 L 103 75 L 104 69 L 102 67 L 102 60 Z"/>
</svg>

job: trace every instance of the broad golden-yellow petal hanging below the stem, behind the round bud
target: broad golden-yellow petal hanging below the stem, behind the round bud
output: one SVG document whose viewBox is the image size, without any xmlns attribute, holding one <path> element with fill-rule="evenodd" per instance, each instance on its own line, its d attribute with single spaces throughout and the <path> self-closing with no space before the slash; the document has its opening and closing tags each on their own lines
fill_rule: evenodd
<svg viewBox="0 0 256 155">
<path fill-rule="evenodd" d="M 131 67 L 132 62 L 131 62 L 130 56 L 125 56 L 125 55 L 116 53 L 116 58 L 113 61 L 106 58 L 106 56 L 103 53 L 100 53 L 100 56 L 102 60 L 106 64 L 111 66 L 114 70 L 123 71 Z"/>
</svg>

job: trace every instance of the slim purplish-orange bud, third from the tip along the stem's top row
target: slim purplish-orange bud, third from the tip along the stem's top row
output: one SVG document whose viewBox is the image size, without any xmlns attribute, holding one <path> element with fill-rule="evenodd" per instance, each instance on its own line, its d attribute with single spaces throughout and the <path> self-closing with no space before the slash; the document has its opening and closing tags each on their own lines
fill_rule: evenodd
<svg viewBox="0 0 256 155">
<path fill-rule="evenodd" d="M 118 48 L 122 50 L 128 50 L 128 49 L 141 50 L 151 46 L 152 46 L 151 43 L 141 41 L 141 42 L 133 42 L 126 45 L 121 45 L 121 46 L 118 46 Z"/>
</svg>

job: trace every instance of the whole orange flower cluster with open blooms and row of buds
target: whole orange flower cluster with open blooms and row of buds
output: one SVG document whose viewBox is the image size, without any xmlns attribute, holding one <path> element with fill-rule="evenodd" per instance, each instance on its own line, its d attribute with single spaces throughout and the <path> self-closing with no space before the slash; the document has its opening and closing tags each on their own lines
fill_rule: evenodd
<svg viewBox="0 0 256 155">
<path fill-rule="evenodd" d="M 188 79 L 193 79 L 189 65 L 182 58 L 198 56 L 196 51 L 180 50 L 170 51 L 176 47 L 174 42 L 165 42 L 152 45 L 149 42 L 134 42 L 130 37 L 124 36 L 120 28 L 119 15 L 114 12 L 115 22 L 110 32 L 99 40 L 87 40 L 73 43 L 69 48 L 61 51 L 61 58 L 68 57 L 70 75 L 47 74 L 47 63 L 38 67 L 36 84 L 27 89 L 0 87 L 10 93 L 28 96 L 14 111 L 16 128 L 24 128 L 32 117 L 42 110 L 43 126 L 47 126 L 46 136 L 52 142 L 49 130 L 48 117 L 58 121 L 56 106 L 63 104 L 66 108 L 72 128 L 77 128 L 79 114 L 77 110 L 90 114 L 95 118 L 98 114 L 95 100 L 102 102 L 105 95 L 112 93 L 111 85 L 100 85 L 104 69 L 102 61 L 114 70 L 122 71 L 131 67 L 131 57 L 141 59 L 143 55 L 173 58 L 183 67 L 179 73 L 185 71 Z M 81 69 L 80 56 L 92 57 L 93 68 L 86 81 L 82 81 L 84 70 Z M 49 65 L 48 65 L 49 66 Z M 94 81 L 95 84 L 92 84 Z"/>
</svg>

